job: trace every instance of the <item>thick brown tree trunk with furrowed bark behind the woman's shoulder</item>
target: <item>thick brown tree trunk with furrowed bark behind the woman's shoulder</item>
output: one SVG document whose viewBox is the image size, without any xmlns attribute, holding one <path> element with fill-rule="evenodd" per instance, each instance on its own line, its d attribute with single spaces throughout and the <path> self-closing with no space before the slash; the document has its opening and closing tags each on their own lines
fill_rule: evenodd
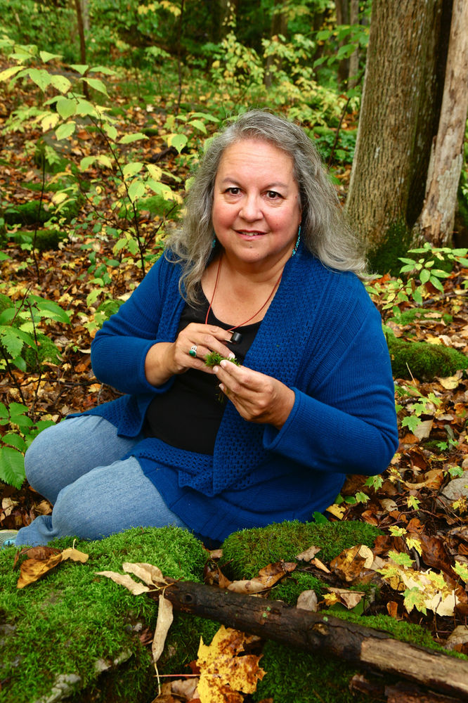
<svg viewBox="0 0 468 703">
<path fill-rule="evenodd" d="M 368 249 L 412 228 L 424 201 L 446 65 L 451 0 L 374 0 L 346 209 Z"/>
</svg>

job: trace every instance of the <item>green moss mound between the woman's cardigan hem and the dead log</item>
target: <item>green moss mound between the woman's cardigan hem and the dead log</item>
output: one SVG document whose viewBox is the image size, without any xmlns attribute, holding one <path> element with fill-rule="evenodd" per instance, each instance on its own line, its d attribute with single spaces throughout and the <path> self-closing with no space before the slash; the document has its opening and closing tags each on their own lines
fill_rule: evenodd
<svg viewBox="0 0 468 703">
<path fill-rule="evenodd" d="M 233 578 L 252 579 L 266 565 L 293 561 L 312 545 L 320 546 L 318 557 L 328 561 L 356 544 L 372 546 L 378 534 L 382 533 L 365 522 L 281 522 L 228 536 L 223 564 Z"/>
</svg>

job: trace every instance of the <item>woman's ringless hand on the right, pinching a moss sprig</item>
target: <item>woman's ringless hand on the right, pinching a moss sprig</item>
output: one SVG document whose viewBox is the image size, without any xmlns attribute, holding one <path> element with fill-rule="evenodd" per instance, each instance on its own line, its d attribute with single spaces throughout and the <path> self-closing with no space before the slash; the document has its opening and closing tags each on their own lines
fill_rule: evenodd
<svg viewBox="0 0 468 703">
<path fill-rule="evenodd" d="M 214 367 L 220 389 L 238 413 L 251 423 L 269 423 L 278 430 L 285 424 L 294 405 L 294 391 L 272 376 L 231 361 Z"/>
</svg>

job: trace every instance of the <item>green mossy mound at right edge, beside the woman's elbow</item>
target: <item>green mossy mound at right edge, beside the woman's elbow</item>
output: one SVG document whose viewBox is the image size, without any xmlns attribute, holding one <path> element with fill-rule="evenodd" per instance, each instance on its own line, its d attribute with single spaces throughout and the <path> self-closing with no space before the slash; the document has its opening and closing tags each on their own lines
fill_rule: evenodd
<svg viewBox="0 0 468 703">
<path fill-rule="evenodd" d="M 436 376 L 451 376 L 459 369 L 468 368 L 468 357 L 457 349 L 442 344 L 407 342 L 393 334 L 386 334 L 394 378 L 432 381 Z"/>
</svg>

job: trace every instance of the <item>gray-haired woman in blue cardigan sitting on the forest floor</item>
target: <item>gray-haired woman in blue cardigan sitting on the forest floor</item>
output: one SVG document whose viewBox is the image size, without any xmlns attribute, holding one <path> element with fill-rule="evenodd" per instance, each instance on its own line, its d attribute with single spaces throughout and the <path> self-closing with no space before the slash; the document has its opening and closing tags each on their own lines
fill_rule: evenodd
<svg viewBox="0 0 468 703">
<path fill-rule="evenodd" d="M 311 520 L 346 473 L 389 464 L 398 439 L 381 321 L 304 131 L 242 115 L 209 144 L 186 209 L 93 341 L 96 377 L 124 395 L 27 452 L 27 478 L 54 508 L 17 546 L 165 524 L 223 540 Z M 225 357 L 214 368 L 212 352 Z"/>
</svg>

